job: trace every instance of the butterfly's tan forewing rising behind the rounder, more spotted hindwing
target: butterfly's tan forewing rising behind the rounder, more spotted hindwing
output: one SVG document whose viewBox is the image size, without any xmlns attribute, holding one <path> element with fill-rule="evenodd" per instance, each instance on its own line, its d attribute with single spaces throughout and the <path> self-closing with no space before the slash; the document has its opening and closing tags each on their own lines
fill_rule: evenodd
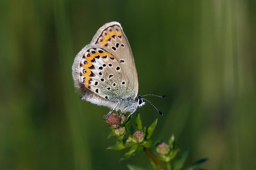
<svg viewBox="0 0 256 170">
<path fill-rule="evenodd" d="M 117 22 L 107 23 L 97 31 L 91 44 L 102 45 L 102 48 L 109 51 L 121 64 L 122 74 L 125 75 L 128 88 L 131 91 L 131 97 L 135 98 L 138 94 L 138 77 L 134 63 L 134 57 L 131 52 L 129 42 L 122 31 L 122 27 Z M 116 64 L 118 62 L 115 62 Z"/>
</svg>

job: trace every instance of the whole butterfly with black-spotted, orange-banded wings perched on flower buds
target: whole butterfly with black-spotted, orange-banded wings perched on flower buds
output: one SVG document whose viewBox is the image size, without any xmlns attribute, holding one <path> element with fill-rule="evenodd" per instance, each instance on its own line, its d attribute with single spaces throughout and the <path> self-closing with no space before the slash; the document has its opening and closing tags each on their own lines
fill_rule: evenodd
<svg viewBox="0 0 256 170">
<path fill-rule="evenodd" d="M 84 93 L 80 99 L 107 106 L 112 111 L 131 112 L 129 116 L 132 116 L 138 107 L 149 102 L 138 96 L 134 57 L 118 22 L 106 23 L 99 28 L 90 44 L 76 55 L 72 75 L 75 87 Z"/>
</svg>

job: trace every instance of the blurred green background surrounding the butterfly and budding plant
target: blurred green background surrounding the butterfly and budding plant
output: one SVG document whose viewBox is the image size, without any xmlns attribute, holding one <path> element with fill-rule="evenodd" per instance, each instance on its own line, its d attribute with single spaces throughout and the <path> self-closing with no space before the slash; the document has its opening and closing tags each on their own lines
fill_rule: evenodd
<svg viewBox="0 0 256 170">
<path fill-rule="evenodd" d="M 0 1 L 0 169 L 149 168 L 145 153 L 106 150 L 108 108 L 79 99 L 71 66 L 105 23 L 121 23 L 134 54 L 144 125 L 172 133 L 187 164 L 256 167 L 255 0 Z M 133 122 L 134 124 L 134 119 Z"/>
</svg>

